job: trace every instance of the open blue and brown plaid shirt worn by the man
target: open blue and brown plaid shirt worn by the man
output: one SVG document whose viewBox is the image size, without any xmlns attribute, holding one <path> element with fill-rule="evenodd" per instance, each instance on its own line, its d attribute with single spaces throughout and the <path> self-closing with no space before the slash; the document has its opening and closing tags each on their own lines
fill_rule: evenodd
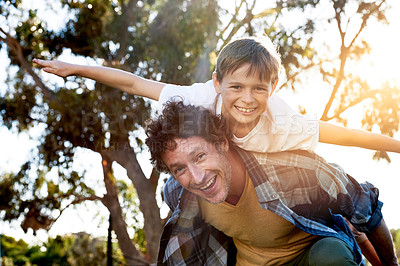
<svg viewBox="0 0 400 266">
<path fill-rule="evenodd" d="M 309 234 L 342 239 L 353 250 L 356 262 L 361 262 L 359 247 L 342 216 L 361 232 L 374 231 L 382 220 L 377 188 L 359 184 L 315 153 L 257 154 L 237 150 L 263 209 Z M 235 263 L 232 239 L 204 222 L 194 194 L 170 178 L 164 196 L 173 213 L 161 237 L 159 265 Z"/>
</svg>

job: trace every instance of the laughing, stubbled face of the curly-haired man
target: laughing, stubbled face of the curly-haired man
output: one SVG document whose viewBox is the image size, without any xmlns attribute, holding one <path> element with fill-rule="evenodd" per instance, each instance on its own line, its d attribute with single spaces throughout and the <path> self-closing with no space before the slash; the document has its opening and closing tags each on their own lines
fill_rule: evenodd
<svg viewBox="0 0 400 266">
<path fill-rule="evenodd" d="M 228 144 L 216 146 L 201 137 L 175 139 L 176 148 L 161 156 L 176 180 L 210 203 L 223 202 L 231 183 Z"/>
</svg>

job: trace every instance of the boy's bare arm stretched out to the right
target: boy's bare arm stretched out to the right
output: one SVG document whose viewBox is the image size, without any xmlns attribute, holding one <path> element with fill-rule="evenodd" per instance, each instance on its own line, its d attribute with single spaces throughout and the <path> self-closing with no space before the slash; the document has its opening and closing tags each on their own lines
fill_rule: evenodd
<svg viewBox="0 0 400 266">
<path fill-rule="evenodd" d="M 400 153 L 400 141 L 368 131 L 319 121 L 319 142 Z"/>
</svg>

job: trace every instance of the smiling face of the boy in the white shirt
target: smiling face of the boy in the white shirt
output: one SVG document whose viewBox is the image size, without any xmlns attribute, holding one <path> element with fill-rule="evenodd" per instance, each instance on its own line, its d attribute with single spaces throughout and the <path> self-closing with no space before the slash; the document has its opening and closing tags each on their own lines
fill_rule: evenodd
<svg viewBox="0 0 400 266">
<path fill-rule="evenodd" d="M 222 96 L 222 115 L 228 118 L 237 137 L 244 137 L 257 125 L 277 84 L 260 80 L 258 73 L 248 76 L 249 66 L 244 64 L 235 72 L 226 74 L 222 81 L 213 75 L 215 90 Z"/>
</svg>

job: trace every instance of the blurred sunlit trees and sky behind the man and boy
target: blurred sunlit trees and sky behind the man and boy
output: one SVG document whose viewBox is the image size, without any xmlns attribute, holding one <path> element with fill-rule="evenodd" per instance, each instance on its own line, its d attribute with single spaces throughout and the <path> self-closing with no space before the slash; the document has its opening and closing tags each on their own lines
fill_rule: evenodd
<svg viewBox="0 0 400 266">
<path fill-rule="evenodd" d="M 168 215 L 144 121 L 156 103 L 44 73 L 33 58 L 104 65 L 187 85 L 220 49 L 265 34 L 294 109 L 400 139 L 395 0 L 0 0 L 1 265 L 154 262 Z M 400 249 L 400 155 L 318 144 L 380 189 Z"/>
</svg>

